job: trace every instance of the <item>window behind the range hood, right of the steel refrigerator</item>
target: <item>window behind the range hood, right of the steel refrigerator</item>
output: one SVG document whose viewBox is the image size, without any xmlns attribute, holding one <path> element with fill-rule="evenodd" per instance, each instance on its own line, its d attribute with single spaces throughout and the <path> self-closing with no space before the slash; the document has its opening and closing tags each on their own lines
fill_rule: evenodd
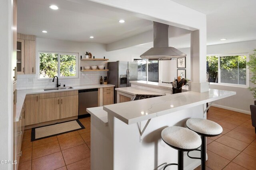
<svg viewBox="0 0 256 170">
<path fill-rule="evenodd" d="M 134 59 L 138 62 L 138 80 L 158 82 L 158 61 L 148 61 L 147 59 Z"/>
</svg>

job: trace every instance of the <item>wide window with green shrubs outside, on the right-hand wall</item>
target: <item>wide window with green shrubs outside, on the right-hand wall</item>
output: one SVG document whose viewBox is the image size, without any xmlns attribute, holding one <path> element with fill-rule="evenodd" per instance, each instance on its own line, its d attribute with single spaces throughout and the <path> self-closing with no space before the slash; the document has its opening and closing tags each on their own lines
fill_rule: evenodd
<svg viewBox="0 0 256 170">
<path fill-rule="evenodd" d="M 207 56 L 208 82 L 246 85 L 246 55 Z"/>
</svg>

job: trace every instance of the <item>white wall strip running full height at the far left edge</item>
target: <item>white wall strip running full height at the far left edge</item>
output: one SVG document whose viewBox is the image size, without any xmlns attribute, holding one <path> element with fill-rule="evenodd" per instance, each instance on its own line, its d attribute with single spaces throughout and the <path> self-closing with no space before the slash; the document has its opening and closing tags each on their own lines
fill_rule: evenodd
<svg viewBox="0 0 256 170">
<path fill-rule="evenodd" d="M 0 5 L 0 160 L 13 160 L 11 3 L 11 0 L 1 0 Z M 12 167 L 12 164 L 0 164 L 0 170 Z"/>
</svg>

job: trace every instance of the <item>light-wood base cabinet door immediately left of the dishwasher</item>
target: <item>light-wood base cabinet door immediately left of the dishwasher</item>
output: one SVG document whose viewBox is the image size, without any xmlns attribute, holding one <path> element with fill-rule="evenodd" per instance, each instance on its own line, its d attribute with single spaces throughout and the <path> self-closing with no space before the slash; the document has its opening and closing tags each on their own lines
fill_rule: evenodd
<svg viewBox="0 0 256 170">
<path fill-rule="evenodd" d="M 60 98 L 60 119 L 78 115 L 78 95 Z"/>
</svg>

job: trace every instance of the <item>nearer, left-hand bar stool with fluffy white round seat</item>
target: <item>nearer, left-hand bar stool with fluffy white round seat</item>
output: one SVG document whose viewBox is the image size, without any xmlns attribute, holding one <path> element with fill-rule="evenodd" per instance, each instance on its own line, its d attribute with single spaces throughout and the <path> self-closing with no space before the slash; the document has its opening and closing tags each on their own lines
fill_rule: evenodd
<svg viewBox="0 0 256 170">
<path fill-rule="evenodd" d="M 178 170 L 183 170 L 183 152 L 196 150 L 202 144 L 198 134 L 184 127 L 166 127 L 162 130 L 161 136 L 168 146 L 178 150 L 178 164 L 167 164 L 164 166 L 164 170 L 170 165 L 178 165 Z"/>
</svg>

